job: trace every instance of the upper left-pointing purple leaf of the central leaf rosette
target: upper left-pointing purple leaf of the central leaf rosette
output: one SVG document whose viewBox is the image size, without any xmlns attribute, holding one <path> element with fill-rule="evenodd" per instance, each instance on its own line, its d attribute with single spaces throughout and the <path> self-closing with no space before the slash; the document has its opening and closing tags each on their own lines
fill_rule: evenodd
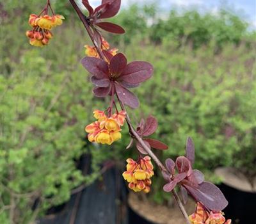
<svg viewBox="0 0 256 224">
<path fill-rule="evenodd" d="M 108 78 L 108 63 L 99 58 L 84 57 L 81 63 L 88 72 L 98 79 Z"/>
</svg>

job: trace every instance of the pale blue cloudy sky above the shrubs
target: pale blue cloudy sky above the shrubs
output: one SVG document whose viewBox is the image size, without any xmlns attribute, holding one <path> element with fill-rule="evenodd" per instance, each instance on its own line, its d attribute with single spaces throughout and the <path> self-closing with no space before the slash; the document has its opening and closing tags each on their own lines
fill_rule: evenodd
<svg viewBox="0 0 256 224">
<path fill-rule="evenodd" d="M 92 6 L 98 6 L 100 0 L 89 0 Z M 218 13 L 222 7 L 235 12 L 242 19 L 256 29 L 256 0 L 122 0 L 121 8 L 126 8 L 132 3 L 157 3 L 162 10 L 170 11 L 172 8 L 198 8 L 200 12 L 210 11 Z"/>
</svg>

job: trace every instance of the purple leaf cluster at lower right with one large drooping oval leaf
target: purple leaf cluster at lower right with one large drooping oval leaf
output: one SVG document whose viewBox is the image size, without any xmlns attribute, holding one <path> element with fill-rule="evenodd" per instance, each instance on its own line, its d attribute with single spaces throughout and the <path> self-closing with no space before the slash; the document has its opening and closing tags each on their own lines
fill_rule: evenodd
<svg viewBox="0 0 256 224">
<path fill-rule="evenodd" d="M 228 202 L 220 189 L 211 182 L 204 181 L 204 174 L 193 170 L 195 161 L 195 146 L 191 138 L 186 143 L 186 157 L 179 156 L 174 162 L 166 159 L 167 172 L 163 172 L 164 179 L 168 182 L 163 186 L 164 191 L 170 192 L 180 184 L 182 198 L 186 202 L 188 193 L 211 211 L 223 210 Z M 175 168 L 177 174 L 175 174 Z M 171 174 L 171 175 L 170 175 Z"/>
</svg>

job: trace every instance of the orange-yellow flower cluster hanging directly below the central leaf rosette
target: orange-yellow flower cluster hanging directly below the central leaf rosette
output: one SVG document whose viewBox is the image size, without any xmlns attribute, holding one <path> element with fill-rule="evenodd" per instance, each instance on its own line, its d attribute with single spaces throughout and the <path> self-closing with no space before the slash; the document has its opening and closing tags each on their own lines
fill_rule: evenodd
<svg viewBox="0 0 256 224">
<path fill-rule="evenodd" d="M 85 127 L 85 131 L 89 133 L 89 141 L 111 145 L 114 141 L 120 140 L 122 137 L 120 127 L 124 125 L 125 111 L 120 111 L 108 117 L 104 111 L 96 109 L 93 111 L 93 115 L 97 121 Z"/>
</svg>

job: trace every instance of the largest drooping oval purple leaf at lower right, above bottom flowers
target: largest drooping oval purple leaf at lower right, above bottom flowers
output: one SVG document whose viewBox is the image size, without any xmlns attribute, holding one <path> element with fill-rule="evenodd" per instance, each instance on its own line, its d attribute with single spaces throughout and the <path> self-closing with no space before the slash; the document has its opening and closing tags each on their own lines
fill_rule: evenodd
<svg viewBox="0 0 256 224">
<path fill-rule="evenodd" d="M 221 190 L 211 182 L 202 182 L 198 188 L 191 188 L 187 185 L 184 187 L 198 202 L 211 211 L 222 211 L 228 205 Z"/>
</svg>

